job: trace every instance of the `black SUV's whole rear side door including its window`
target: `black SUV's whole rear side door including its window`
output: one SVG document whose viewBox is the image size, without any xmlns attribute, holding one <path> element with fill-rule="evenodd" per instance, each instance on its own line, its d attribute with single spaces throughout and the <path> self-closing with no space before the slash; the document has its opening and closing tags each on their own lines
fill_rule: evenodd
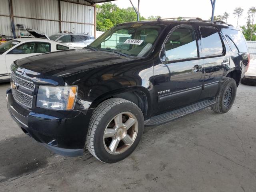
<svg viewBox="0 0 256 192">
<path fill-rule="evenodd" d="M 200 26 L 199 31 L 204 57 L 204 88 L 200 99 L 213 98 L 218 93 L 224 71 L 229 68 L 229 54 L 217 28 Z"/>
</svg>

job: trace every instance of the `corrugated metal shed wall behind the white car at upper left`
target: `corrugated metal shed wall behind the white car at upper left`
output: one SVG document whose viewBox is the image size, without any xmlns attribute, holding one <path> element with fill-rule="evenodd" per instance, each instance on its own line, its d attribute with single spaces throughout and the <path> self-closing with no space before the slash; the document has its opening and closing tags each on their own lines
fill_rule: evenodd
<svg viewBox="0 0 256 192">
<path fill-rule="evenodd" d="M 0 34 L 12 36 L 9 0 L 0 0 Z M 60 1 L 61 30 L 94 35 L 94 7 L 85 0 Z M 12 0 L 14 24 L 24 24 L 45 32 L 48 36 L 60 32 L 58 0 Z M 81 4 L 79 4 L 81 3 Z M 88 4 L 88 5 L 84 5 Z M 20 18 L 26 17 L 26 18 Z M 41 20 L 42 19 L 42 20 Z M 76 23 L 77 22 L 77 23 Z M 20 30 L 24 35 L 26 30 Z M 18 35 L 18 29 L 16 29 Z"/>
</svg>

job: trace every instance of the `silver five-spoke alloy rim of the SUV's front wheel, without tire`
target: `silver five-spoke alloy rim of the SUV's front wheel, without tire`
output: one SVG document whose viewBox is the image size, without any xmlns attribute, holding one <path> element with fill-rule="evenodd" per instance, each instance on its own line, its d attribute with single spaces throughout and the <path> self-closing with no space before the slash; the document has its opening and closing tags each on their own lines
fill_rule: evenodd
<svg viewBox="0 0 256 192">
<path fill-rule="evenodd" d="M 121 154 L 132 146 L 138 133 L 138 120 L 130 112 L 116 115 L 107 125 L 103 143 L 110 154 Z"/>
</svg>

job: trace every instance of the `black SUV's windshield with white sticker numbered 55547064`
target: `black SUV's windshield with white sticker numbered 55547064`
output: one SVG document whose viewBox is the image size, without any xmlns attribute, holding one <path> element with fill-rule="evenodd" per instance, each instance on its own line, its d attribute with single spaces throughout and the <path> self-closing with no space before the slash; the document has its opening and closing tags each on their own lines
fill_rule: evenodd
<svg viewBox="0 0 256 192">
<path fill-rule="evenodd" d="M 160 31 L 161 27 L 156 24 L 132 23 L 116 26 L 92 42 L 90 47 L 143 57 L 152 50 Z"/>
</svg>

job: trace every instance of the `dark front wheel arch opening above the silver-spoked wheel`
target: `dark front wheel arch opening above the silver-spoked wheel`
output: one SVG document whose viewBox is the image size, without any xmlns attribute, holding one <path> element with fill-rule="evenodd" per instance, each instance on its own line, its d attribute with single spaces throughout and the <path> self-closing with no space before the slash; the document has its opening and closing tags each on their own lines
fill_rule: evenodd
<svg viewBox="0 0 256 192">
<path fill-rule="evenodd" d="M 89 108 L 95 108 L 109 98 L 123 98 L 135 103 L 142 111 L 144 120 L 148 119 L 151 114 L 152 100 L 150 92 L 145 87 L 133 86 L 104 93 L 93 100 Z"/>
</svg>

